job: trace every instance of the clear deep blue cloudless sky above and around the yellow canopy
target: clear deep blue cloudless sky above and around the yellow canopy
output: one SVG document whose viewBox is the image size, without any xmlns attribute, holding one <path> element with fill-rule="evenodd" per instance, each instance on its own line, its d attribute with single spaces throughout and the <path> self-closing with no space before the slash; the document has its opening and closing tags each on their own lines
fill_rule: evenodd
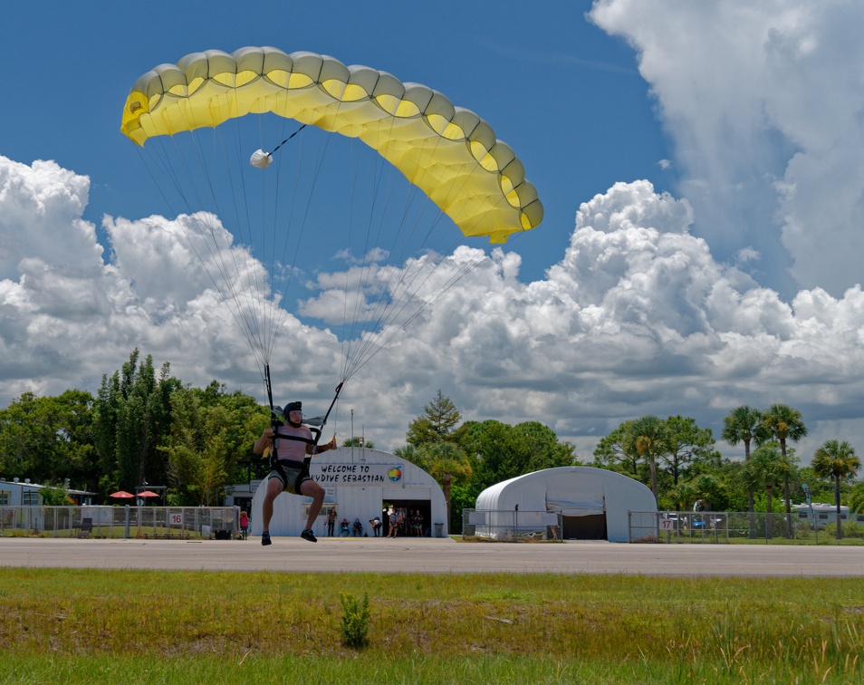
<svg viewBox="0 0 864 685">
<path fill-rule="evenodd" d="M 213 3 L 199 2 L 157 2 L 148 11 L 108 3 L 89 12 L 53 3 L 7 8 L 0 31 L 7 56 L 19 55 L 8 85 L 20 106 L 6 108 L 0 150 L 89 175 L 84 216 L 97 225 L 103 213 L 142 216 L 153 209 L 152 188 L 119 133 L 132 82 L 187 53 L 273 45 L 424 83 L 489 121 L 523 159 L 545 205 L 542 230 L 521 241 L 526 277 L 542 277 L 562 253 L 573 198 L 621 179 L 666 188 L 647 84 L 624 41 L 585 20 L 590 3 L 531 13 L 506 2 L 457 10 L 384 2 L 374 11 L 353 3 L 251 5 L 263 9 L 214 12 Z"/>
</svg>

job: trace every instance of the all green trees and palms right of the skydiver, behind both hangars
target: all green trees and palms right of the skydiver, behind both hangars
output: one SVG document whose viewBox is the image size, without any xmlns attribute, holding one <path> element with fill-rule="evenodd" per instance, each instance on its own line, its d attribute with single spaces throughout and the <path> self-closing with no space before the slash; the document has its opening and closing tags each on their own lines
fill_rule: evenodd
<svg viewBox="0 0 864 685">
<path fill-rule="evenodd" d="M 459 425 L 460 420 L 456 406 L 439 390 L 408 425 L 408 445 L 396 450 L 437 478 L 451 530 L 461 529 L 462 509 L 474 507 L 486 487 L 542 468 L 582 464 L 573 446 L 560 442 L 542 423 Z M 850 443 L 828 440 L 816 450 L 811 466 L 800 468 L 789 443 L 806 435 L 801 412 L 787 405 L 735 408 L 725 417 L 722 438 L 733 447 L 744 445 L 741 461 L 724 458 L 711 429 L 700 428 L 690 417 L 647 415 L 621 423 L 600 439 L 587 465 L 644 483 L 661 510 L 689 511 L 698 503 L 714 511 L 785 511 L 792 535 L 792 502 L 803 501 L 804 483 L 810 485 L 813 501 L 833 499 L 839 513 L 841 499 L 846 499 L 851 511 L 864 512 L 864 483 L 850 483 L 860 468 Z"/>
</svg>

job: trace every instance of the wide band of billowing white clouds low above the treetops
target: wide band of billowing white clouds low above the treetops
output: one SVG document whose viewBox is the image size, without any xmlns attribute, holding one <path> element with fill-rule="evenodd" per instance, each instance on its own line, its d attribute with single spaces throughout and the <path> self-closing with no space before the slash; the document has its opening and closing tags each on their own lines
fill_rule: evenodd
<svg viewBox="0 0 864 685">
<path fill-rule="evenodd" d="M 216 378 L 264 399 L 250 342 L 205 266 L 241 265 L 245 291 L 266 302 L 264 281 L 251 275 L 263 267 L 216 217 L 206 222 L 225 238 L 223 253 L 203 259 L 192 246 L 204 217 L 106 217 L 105 259 L 82 221 L 87 178 L 5 158 L 0 178 L 4 402 L 23 391 L 95 391 L 101 374 L 119 368 L 134 347 L 171 362 L 184 381 Z M 34 217 L 20 207 L 43 209 Z M 841 297 L 812 288 L 784 302 L 715 260 L 691 233 L 694 221 L 686 199 L 648 181 L 619 183 L 581 204 L 569 246 L 542 280 L 523 283 L 521 258 L 506 248 L 485 255 L 463 246 L 438 256 L 423 281 L 430 304 L 393 323 L 404 330 L 346 384 L 334 428 L 346 435 L 355 410 L 355 431 L 398 447 L 440 388 L 465 419 L 540 420 L 583 458 L 621 421 L 644 413 L 683 413 L 718 429 L 737 404 L 775 401 L 802 410 L 810 425 L 805 460 L 823 439 L 855 444 L 864 407 L 860 288 Z M 295 313 L 276 308 L 277 397 L 330 400 L 348 353 L 320 323 L 339 318 L 331 290 L 352 283 L 369 303 L 384 284 L 399 282 L 393 276 L 417 272 L 430 258 L 382 267 L 365 280 L 351 280 L 357 266 L 347 265 L 312 279 Z M 473 268 L 465 272 L 466 265 Z M 384 278 L 388 270 L 401 273 Z M 457 285 L 441 287 L 455 275 Z"/>
</svg>

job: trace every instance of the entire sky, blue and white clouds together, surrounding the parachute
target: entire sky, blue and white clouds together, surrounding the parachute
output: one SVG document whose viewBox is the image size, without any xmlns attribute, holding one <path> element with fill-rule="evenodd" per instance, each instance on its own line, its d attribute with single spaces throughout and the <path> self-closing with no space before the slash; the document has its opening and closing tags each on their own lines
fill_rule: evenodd
<svg viewBox="0 0 864 685">
<path fill-rule="evenodd" d="M 840 0 L 5 7 L 0 402 L 96 391 L 136 346 L 264 400 L 173 217 L 141 223 L 163 208 L 119 127 L 156 64 L 273 45 L 444 92 L 545 208 L 346 388 L 340 431 L 354 409 L 396 448 L 440 388 L 466 419 L 541 420 L 583 459 L 623 420 L 719 432 L 744 403 L 802 410 L 805 462 L 824 439 L 864 449 L 862 18 Z M 277 395 L 323 404 L 339 347 L 286 309 Z"/>
</svg>

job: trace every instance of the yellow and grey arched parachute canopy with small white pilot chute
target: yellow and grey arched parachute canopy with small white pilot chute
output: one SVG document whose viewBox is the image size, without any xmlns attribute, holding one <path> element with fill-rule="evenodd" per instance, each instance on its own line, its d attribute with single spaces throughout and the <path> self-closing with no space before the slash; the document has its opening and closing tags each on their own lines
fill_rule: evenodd
<svg viewBox="0 0 864 685">
<path fill-rule="evenodd" d="M 542 221 L 522 162 L 474 112 L 427 86 L 326 55 L 272 47 L 188 54 L 135 82 L 120 130 L 144 145 L 156 136 L 267 112 L 362 140 L 465 236 L 503 243 Z M 266 167 L 269 159 L 262 156 L 268 153 L 258 152 Z"/>
</svg>

